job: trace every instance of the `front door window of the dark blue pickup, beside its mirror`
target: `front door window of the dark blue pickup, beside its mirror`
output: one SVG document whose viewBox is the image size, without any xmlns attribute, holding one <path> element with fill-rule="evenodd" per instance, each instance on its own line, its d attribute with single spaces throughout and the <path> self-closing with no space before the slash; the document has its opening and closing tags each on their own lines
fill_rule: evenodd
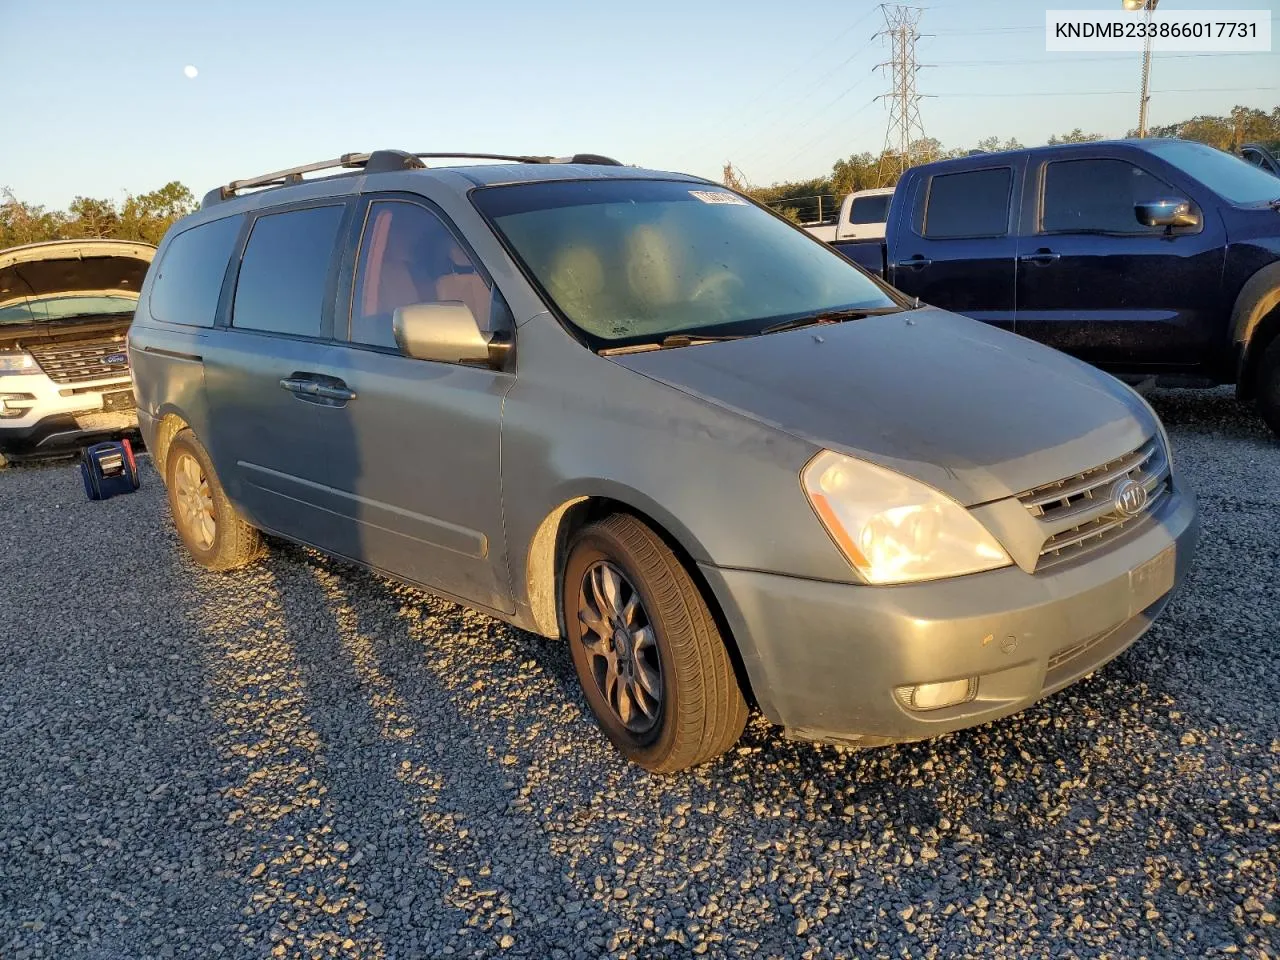
<svg viewBox="0 0 1280 960">
<path fill-rule="evenodd" d="M 1134 204 L 1178 191 L 1128 160 L 1057 160 L 1044 166 L 1042 233 L 1164 233 L 1138 223 Z"/>
</svg>

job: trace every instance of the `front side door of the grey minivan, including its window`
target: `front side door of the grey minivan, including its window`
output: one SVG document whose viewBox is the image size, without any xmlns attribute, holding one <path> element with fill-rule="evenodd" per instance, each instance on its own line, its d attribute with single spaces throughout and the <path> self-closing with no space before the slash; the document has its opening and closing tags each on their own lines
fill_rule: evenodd
<svg viewBox="0 0 1280 960">
<path fill-rule="evenodd" d="M 397 307 L 440 301 L 509 329 L 500 296 L 443 215 L 415 198 L 367 198 L 355 233 L 334 332 L 346 344 L 330 372 L 355 393 L 335 421 L 357 468 L 333 508 L 358 522 L 367 563 L 511 612 L 500 421 L 515 375 L 407 357 L 392 333 Z"/>
</svg>

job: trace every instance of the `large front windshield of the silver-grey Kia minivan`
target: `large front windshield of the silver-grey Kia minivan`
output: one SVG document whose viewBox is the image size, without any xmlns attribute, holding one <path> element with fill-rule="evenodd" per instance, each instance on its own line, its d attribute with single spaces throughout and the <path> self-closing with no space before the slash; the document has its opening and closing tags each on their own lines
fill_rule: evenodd
<svg viewBox="0 0 1280 960">
<path fill-rule="evenodd" d="M 552 180 L 472 196 L 594 348 L 899 308 L 844 256 L 714 184 Z"/>
</svg>

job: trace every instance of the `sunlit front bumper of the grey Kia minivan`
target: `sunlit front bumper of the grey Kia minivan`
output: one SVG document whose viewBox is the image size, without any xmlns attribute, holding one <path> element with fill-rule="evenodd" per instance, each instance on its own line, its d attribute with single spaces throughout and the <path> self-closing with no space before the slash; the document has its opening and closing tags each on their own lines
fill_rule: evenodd
<svg viewBox="0 0 1280 960">
<path fill-rule="evenodd" d="M 1174 590 L 1199 535 L 1175 484 L 1123 540 L 1042 573 L 1006 567 L 904 586 L 856 586 L 700 564 L 764 714 L 788 736 L 864 746 L 1015 713 L 1091 673 L 1165 608 L 1133 571 L 1175 550 Z M 913 710 L 895 689 L 977 678 L 968 703 Z"/>
</svg>

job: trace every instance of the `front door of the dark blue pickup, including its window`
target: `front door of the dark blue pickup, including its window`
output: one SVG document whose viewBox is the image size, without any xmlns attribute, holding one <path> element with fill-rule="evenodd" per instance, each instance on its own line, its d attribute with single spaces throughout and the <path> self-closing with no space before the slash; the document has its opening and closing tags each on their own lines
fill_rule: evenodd
<svg viewBox="0 0 1280 960">
<path fill-rule="evenodd" d="M 1042 206 L 1019 238 L 1016 332 L 1116 371 L 1204 361 L 1221 325 L 1217 214 L 1142 225 L 1134 204 L 1185 191 L 1128 159 L 1051 160 L 1033 177 Z"/>
</svg>

